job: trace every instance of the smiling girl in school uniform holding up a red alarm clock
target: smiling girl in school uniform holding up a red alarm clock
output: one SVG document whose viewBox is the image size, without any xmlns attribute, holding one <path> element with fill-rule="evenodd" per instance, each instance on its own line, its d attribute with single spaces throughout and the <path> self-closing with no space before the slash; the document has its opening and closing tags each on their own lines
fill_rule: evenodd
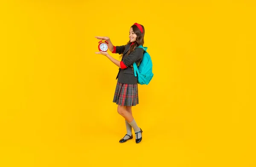
<svg viewBox="0 0 256 167">
<path fill-rule="evenodd" d="M 142 130 L 137 126 L 134 117 L 131 112 L 131 107 L 139 104 L 138 97 L 138 84 L 137 77 L 134 76 L 134 69 L 132 64 L 136 62 L 137 66 L 143 58 L 144 50 L 142 48 L 136 48 L 137 46 L 144 44 L 145 29 L 143 25 L 134 23 L 130 28 L 129 38 L 130 40 L 126 45 L 113 46 L 109 37 L 96 37 L 99 40 L 107 40 L 109 50 L 112 53 L 118 53 L 121 55 L 121 61 L 112 58 L 108 52 L 96 52 L 96 54 L 105 55 L 116 66 L 119 67 L 119 72 L 116 79 L 116 90 L 114 93 L 113 102 L 118 105 L 117 112 L 125 118 L 125 125 L 127 134 L 120 139 L 120 143 L 124 143 L 133 138 L 131 128 L 134 129 L 136 135 L 136 143 L 140 143 L 142 140 Z"/>
</svg>

